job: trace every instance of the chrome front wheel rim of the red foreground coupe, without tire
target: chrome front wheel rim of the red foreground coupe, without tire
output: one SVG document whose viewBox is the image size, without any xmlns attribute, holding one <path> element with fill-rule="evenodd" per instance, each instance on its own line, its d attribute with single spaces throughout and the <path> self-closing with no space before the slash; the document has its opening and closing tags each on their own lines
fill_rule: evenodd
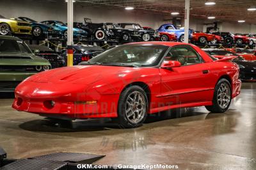
<svg viewBox="0 0 256 170">
<path fill-rule="evenodd" d="M 145 97 L 139 91 L 134 91 L 126 99 L 125 116 L 132 124 L 138 124 L 146 114 Z"/>
</svg>

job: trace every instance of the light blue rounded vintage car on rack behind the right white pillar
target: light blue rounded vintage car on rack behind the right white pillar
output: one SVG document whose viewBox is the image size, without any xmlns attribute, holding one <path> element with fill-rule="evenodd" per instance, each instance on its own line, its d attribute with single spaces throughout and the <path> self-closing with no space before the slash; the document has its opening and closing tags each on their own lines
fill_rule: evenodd
<svg viewBox="0 0 256 170">
<path fill-rule="evenodd" d="M 159 32 L 170 32 L 177 35 L 179 41 L 184 41 L 184 28 L 177 29 L 175 25 L 172 24 L 163 24 L 158 29 Z M 192 38 L 193 30 L 189 29 L 189 39 Z"/>
</svg>

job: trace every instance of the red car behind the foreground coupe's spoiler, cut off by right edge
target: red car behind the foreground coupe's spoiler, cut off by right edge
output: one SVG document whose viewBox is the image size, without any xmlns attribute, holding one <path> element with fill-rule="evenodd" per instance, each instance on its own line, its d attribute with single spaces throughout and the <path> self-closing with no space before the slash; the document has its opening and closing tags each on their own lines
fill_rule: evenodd
<svg viewBox="0 0 256 170">
<path fill-rule="evenodd" d="M 244 48 L 226 48 L 226 50 L 230 52 L 237 53 L 241 57 L 243 57 L 245 60 L 248 61 L 256 61 L 256 52 L 255 50 L 248 50 Z"/>
</svg>

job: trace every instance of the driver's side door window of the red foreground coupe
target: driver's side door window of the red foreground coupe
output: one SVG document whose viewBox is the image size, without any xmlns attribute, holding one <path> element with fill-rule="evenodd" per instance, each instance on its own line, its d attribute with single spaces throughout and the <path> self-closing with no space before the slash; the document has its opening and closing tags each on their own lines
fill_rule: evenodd
<svg viewBox="0 0 256 170">
<path fill-rule="evenodd" d="M 182 66 L 202 63 L 200 55 L 189 45 L 174 46 L 164 60 L 177 60 Z"/>
</svg>

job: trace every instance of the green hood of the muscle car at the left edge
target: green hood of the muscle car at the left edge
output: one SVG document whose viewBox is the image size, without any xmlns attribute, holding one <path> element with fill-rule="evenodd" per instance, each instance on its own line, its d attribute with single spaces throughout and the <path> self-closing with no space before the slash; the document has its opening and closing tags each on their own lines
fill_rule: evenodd
<svg viewBox="0 0 256 170">
<path fill-rule="evenodd" d="M 0 65 L 50 65 L 49 61 L 33 53 L 0 53 Z"/>
</svg>

